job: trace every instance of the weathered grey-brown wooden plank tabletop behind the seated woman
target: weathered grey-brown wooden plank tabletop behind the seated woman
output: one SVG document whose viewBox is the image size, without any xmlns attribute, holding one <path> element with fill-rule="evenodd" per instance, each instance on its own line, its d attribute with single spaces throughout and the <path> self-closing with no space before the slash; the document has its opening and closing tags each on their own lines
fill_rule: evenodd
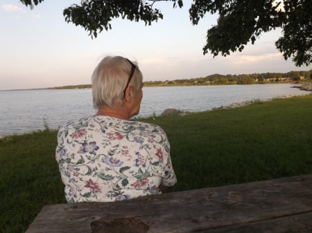
<svg viewBox="0 0 312 233">
<path fill-rule="evenodd" d="M 148 233 L 311 233 L 312 175 L 116 203 L 46 205 L 26 233 L 88 233 L 94 221 L 129 216 L 147 223 Z"/>
</svg>

